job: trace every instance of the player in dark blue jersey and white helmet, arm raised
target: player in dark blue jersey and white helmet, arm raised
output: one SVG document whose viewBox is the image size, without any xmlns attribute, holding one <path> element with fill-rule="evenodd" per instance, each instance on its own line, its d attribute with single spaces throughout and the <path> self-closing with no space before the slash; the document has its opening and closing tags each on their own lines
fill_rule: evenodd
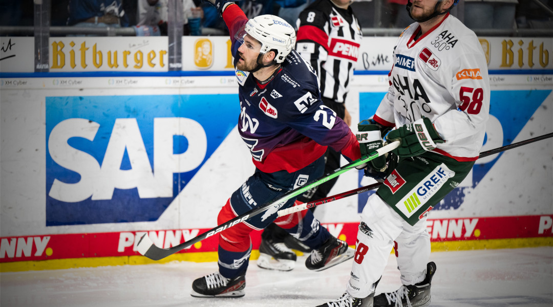
<svg viewBox="0 0 553 307">
<path fill-rule="evenodd" d="M 294 28 L 273 15 L 248 20 L 232 2 L 209 1 L 231 34 L 241 108 L 238 129 L 256 167 L 221 209 L 221 224 L 322 176 L 327 146 L 348 160 L 357 160 L 361 153 L 349 127 L 321 103 L 314 71 L 293 50 Z M 290 199 L 280 208 L 294 202 Z M 353 257 L 353 248 L 321 227 L 310 210 L 278 219 L 277 210 L 222 231 L 219 270 L 194 280 L 191 295 L 242 297 L 252 251 L 249 234 L 273 221 L 313 248 L 305 262 L 309 269 L 320 271 Z"/>
</svg>

